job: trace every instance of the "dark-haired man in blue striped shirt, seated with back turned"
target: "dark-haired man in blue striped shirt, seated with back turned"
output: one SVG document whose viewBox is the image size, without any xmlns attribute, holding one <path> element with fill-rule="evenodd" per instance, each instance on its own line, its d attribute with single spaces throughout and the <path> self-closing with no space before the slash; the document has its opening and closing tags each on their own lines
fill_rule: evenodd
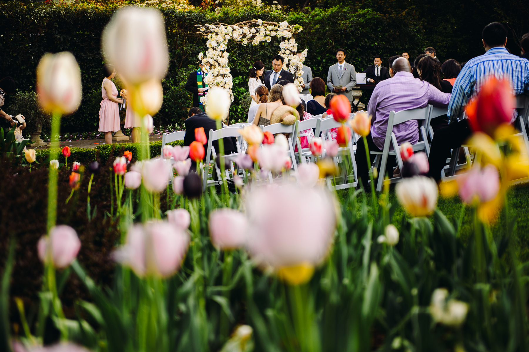
<svg viewBox="0 0 529 352">
<path fill-rule="evenodd" d="M 428 175 L 437 182 L 441 180 L 441 170 L 446 159 L 450 158 L 450 150 L 460 147 L 472 134 L 467 119 L 461 117 L 468 100 L 479 91 L 487 77 L 494 75 L 508 79 L 512 84 L 514 95 L 529 90 L 529 61 L 509 54 L 505 49 L 507 43 L 505 27 L 501 23 L 492 22 L 485 26 L 482 37 L 486 52 L 469 60 L 459 73 L 448 105 L 450 126 L 437 131 L 432 140 Z"/>
</svg>

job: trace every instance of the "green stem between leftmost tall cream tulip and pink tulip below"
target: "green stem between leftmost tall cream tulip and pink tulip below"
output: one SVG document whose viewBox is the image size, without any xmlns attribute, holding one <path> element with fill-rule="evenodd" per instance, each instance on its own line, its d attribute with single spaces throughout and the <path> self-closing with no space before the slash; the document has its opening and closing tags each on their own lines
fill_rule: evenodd
<svg viewBox="0 0 529 352">
<path fill-rule="evenodd" d="M 53 112 L 51 117 L 51 146 L 50 160 L 57 159 L 59 154 L 59 128 L 61 114 Z M 48 232 L 55 226 L 57 221 L 57 179 L 58 170 L 50 167 L 48 178 Z"/>
</svg>

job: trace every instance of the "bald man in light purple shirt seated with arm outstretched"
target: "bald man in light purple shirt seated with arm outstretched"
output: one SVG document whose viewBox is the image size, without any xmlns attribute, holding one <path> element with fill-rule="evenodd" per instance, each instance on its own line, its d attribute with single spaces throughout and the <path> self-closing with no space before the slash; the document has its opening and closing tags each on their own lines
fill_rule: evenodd
<svg viewBox="0 0 529 352">
<path fill-rule="evenodd" d="M 432 104 L 438 107 L 447 107 L 450 94 L 443 93 L 426 81 L 414 78 L 412 67 L 405 58 L 396 59 L 389 67 L 390 79 L 379 82 L 373 90 L 368 104 L 368 114 L 372 116 L 371 133 L 367 136 L 370 151 L 381 152 L 384 149 L 384 141 L 388 128 L 389 113 L 394 110 L 410 110 L 426 107 Z M 398 144 L 410 142 L 415 144 L 419 140 L 419 126 L 417 120 L 403 122 L 395 125 L 393 132 L 397 137 Z M 375 155 L 371 155 L 370 164 Z M 359 178 L 367 189 L 369 169 L 366 161 L 366 149 L 363 143 L 357 143 L 356 162 Z M 393 175 L 393 167 L 396 165 L 395 158 L 388 158 L 387 172 Z M 384 177 L 384 172 L 379 177 Z"/>
</svg>

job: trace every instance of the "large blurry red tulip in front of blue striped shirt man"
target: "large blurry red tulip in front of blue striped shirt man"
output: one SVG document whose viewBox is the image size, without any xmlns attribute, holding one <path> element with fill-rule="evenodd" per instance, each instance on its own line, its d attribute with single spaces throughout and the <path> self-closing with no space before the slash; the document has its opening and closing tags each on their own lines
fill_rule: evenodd
<svg viewBox="0 0 529 352">
<path fill-rule="evenodd" d="M 474 132 L 493 136 L 496 127 L 510 123 L 515 106 L 509 81 L 491 76 L 481 86 L 477 96 L 469 101 L 465 111 Z"/>
</svg>

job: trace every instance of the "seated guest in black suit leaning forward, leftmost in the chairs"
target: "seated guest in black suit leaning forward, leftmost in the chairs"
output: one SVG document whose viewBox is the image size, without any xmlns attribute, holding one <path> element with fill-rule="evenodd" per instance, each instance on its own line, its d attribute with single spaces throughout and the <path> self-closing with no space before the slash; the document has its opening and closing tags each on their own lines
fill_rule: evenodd
<svg viewBox="0 0 529 352">
<path fill-rule="evenodd" d="M 187 112 L 187 119 L 184 121 L 186 125 L 186 135 L 184 136 L 184 145 L 189 145 L 195 141 L 195 128 L 204 127 L 206 133 L 206 139 L 209 140 L 209 130 L 213 129 L 216 131 L 217 122 L 207 116 L 207 113 L 202 112 L 199 107 L 192 107 Z M 224 140 L 224 154 L 236 153 L 232 138 L 225 137 Z M 218 154 L 218 141 L 213 141 L 212 145 L 215 147 L 215 151 Z M 207 143 L 204 145 L 204 149 L 207 148 Z"/>
</svg>

